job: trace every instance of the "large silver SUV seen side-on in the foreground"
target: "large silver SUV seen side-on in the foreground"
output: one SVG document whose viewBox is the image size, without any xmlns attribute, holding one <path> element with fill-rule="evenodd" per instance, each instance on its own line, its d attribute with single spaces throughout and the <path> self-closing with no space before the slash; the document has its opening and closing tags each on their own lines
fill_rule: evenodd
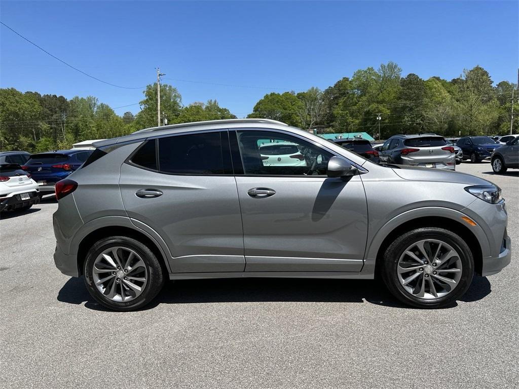
<svg viewBox="0 0 519 389">
<path fill-rule="evenodd" d="M 265 163 L 267 143 L 305 163 Z M 110 309 L 143 307 L 167 279 L 375 276 L 434 308 L 510 262 L 501 190 L 469 174 L 378 165 L 262 119 L 94 146 L 56 185 L 54 261 Z"/>
</svg>

